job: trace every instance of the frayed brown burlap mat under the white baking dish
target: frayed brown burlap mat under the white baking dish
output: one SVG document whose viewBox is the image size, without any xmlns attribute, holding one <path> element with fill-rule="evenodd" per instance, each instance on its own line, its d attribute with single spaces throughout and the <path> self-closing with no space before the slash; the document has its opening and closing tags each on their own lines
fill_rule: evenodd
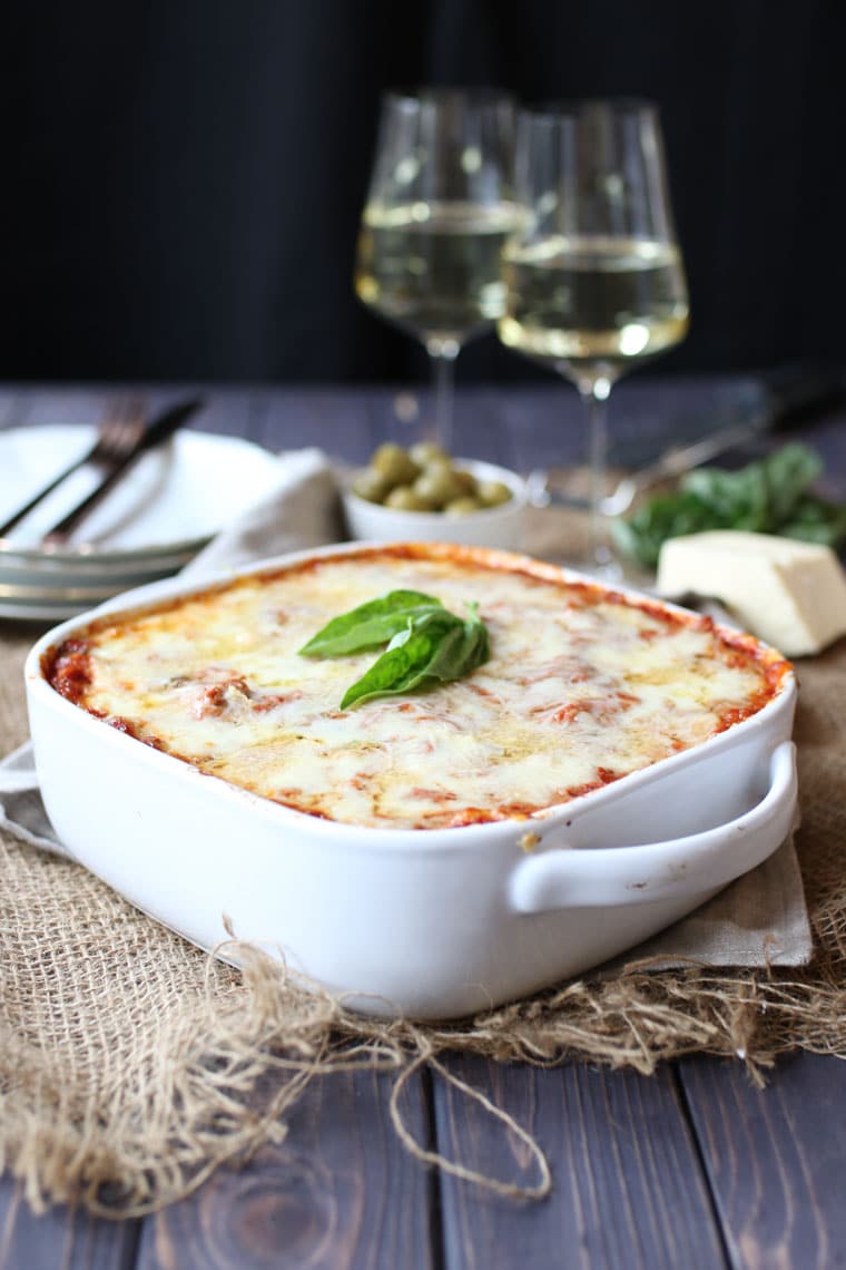
<svg viewBox="0 0 846 1270">
<path fill-rule="evenodd" d="M 561 513 L 545 512 L 529 546 L 554 558 L 568 533 Z M 1 753 L 27 737 L 20 672 L 34 634 L 0 624 Z M 396 1071 L 397 1130 L 431 1158 L 407 1138 L 400 1096 L 420 1064 L 445 1071 L 446 1050 L 644 1073 L 701 1052 L 738 1055 L 756 1080 L 794 1048 L 842 1055 L 846 641 L 802 663 L 799 678 L 797 847 L 814 935 L 803 966 L 717 969 L 704 963 L 718 958 L 701 956 L 656 973 L 639 950 L 613 974 L 469 1022 L 382 1024 L 302 992 L 259 952 L 242 950 L 242 972 L 209 959 L 80 866 L 0 833 L 0 1163 L 36 1208 L 72 1199 L 122 1215 L 170 1203 L 223 1161 L 284 1137 L 284 1113 L 308 1081 L 350 1066 Z M 493 1187 L 544 1194 L 537 1151 L 535 1166 L 540 1184 Z"/>
</svg>

